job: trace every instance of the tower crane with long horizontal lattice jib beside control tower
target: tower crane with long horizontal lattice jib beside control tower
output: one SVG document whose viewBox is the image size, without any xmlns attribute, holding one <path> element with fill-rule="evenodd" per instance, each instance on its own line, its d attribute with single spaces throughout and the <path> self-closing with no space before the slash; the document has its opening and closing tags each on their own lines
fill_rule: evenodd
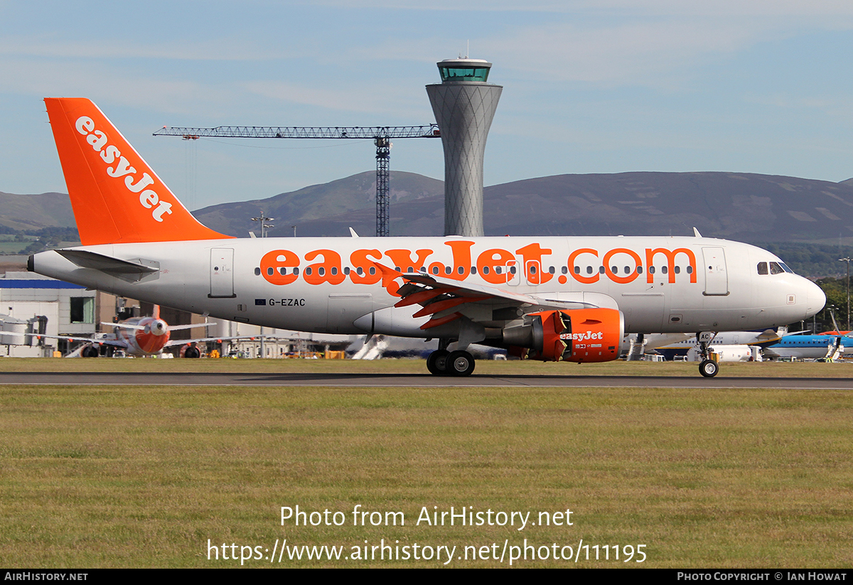
<svg viewBox="0 0 853 585">
<path fill-rule="evenodd" d="M 438 125 L 426 126 L 217 126 L 216 128 L 177 128 L 164 126 L 154 136 L 199 138 L 320 138 L 373 139 L 376 145 L 376 235 L 390 231 L 388 193 L 390 191 L 391 141 L 393 138 L 439 138 Z"/>
</svg>

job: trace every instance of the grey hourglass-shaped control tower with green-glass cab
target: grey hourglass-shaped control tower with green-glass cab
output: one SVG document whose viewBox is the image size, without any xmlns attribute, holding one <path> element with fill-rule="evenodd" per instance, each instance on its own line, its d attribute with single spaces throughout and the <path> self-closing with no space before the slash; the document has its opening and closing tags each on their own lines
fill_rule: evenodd
<svg viewBox="0 0 853 585">
<path fill-rule="evenodd" d="M 483 153 L 501 85 L 487 84 L 491 63 L 438 62 L 441 83 L 427 95 L 444 147 L 444 235 L 483 235 Z"/>
</svg>

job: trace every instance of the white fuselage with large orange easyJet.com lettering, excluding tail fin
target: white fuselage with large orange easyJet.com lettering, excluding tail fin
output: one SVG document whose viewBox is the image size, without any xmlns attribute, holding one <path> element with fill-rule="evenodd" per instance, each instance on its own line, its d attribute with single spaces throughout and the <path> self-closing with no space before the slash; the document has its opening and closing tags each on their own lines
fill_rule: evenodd
<svg viewBox="0 0 853 585">
<path fill-rule="evenodd" d="M 436 337 L 420 328 L 428 317 L 412 316 L 420 307 L 392 309 L 403 279 L 383 278 L 376 264 L 462 287 L 618 308 L 626 333 L 778 327 L 814 315 L 825 302 L 801 276 L 759 274 L 758 263 L 778 261 L 770 252 L 699 237 L 269 238 L 75 249 L 159 272 L 128 281 L 53 251 L 35 255 L 32 269 L 181 310 L 316 333 Z M 507 321 L 500 299 L 472 305 L 461 310 L 476 312 L 473 321 Z"/>
</svg>

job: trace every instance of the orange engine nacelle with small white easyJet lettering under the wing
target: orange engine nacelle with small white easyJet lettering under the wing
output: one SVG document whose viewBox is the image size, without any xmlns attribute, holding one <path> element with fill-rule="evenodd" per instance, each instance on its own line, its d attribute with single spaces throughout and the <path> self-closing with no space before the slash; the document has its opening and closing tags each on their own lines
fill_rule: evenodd
<svg viewBox="0 0 853 585">
<path fill-rule="evenodd" d="M 625 323 L 619 310 L 546 310 L 529 316 L 531 324 L 525 326 L 531 327 L 529 350 L 526 351 L 529 359 L 609 362 L 622 352 Z M 515 349 L 511 348 L 510 353 L 518 354 Z"/>
</svg>

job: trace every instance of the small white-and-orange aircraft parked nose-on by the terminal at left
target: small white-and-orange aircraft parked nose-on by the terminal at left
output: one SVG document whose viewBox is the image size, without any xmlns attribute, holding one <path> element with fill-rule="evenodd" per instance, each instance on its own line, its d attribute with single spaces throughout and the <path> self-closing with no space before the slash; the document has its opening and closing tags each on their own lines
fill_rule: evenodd
<svg viewBox="0 0 853 585">
<path fill-rule="evenodd" d="M 183 345 L 180 350 L 182 357 L 200 357 L 201 351 L 196 344 L 203 341 L 220 341 L 232 338 L 202 338 L 202 339 L 176 339 L 170 340 L 171 333 L 181 329 L 194 329 L 196 327 L 207 327 L 216 325 L 213 322 L 198 323 L 195 325 L 169 325 L 160 319 L 160 305 L 154 305 L 154 315 L 147 317 L 133 317 L 117 323 L 102 323 L 115 327 L 115 333 L 107 333 L 101 337 L 75 337 L 73 335 L 43 335 L 38 333 L 26 333 L 36 339 L 67 339 L 68 341 L 82 341 L 78 350 L 73 351 L 67 357 L 97 357 L 101 355 L 99 346 L 112 345 L 124 350 L 129 356 L 159 356 L 167 347 Z"/>
</svg>

